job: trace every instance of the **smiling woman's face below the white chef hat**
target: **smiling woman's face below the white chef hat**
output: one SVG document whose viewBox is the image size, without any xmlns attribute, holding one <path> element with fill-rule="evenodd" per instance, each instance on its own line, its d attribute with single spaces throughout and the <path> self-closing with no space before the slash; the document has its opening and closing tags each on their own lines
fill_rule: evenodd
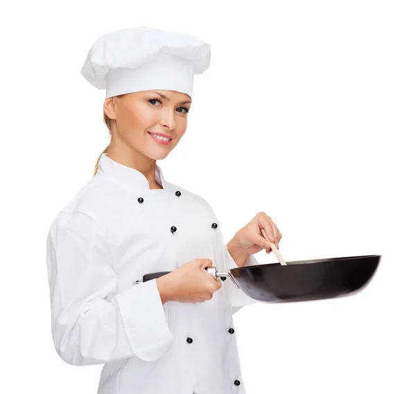
<svg viewBox="0 0 416 394">
<path fill-rule="evenodd" d="M 104 111 L 116 120 L 112 138 L 116 145 L 128 145 L 153 160 L 164 159 L 179 143 L 187 129 L 187 111 L 191 98 L 172 90 L 152 90 L 107 98 Z M 161 141 L 152 136 L 164 134 L 172 138 Z"/>
</svg>

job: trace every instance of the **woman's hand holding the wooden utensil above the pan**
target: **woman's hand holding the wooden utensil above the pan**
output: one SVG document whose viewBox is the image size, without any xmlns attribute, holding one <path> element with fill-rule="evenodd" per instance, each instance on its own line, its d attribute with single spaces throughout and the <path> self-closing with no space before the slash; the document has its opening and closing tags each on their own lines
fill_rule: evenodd
<svg viewBox="0 0 416 394">
<path fill-rule="evenodd" d="M 248 224 L 236 232 L 233 238 L 234 247 L 244 251 L 248 255 L 257 253 L 261 249 L 266 249 L 266 252 L 270 253 L 272 251 L 270 242 L 263 237 L 261 229 L 266 231 L 270 242 L 274 243 L 277 249 L 279 249 L 281 233 L 272 221 L 272 218 L 264 212 L 257 213 Z"/>
</svg>

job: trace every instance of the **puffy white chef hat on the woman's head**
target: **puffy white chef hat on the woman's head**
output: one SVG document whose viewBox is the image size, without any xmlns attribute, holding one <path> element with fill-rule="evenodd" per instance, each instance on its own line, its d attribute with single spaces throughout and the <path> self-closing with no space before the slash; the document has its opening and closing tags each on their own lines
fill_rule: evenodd
<svg viewBox="0 0 416 394">
<path fill-rule="evenodd" d="M 101 36 L 81 74 L 105 98 L 150 89 L 192 95 L 193 75 L 209 67 L 210 46 L 184 33 L 142 26 Z"/>
</svg>

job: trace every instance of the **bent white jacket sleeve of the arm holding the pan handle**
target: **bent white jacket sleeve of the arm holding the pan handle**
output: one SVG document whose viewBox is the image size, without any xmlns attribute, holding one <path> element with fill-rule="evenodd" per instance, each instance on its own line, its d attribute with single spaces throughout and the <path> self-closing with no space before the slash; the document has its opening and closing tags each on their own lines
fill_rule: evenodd
<svg viewBox="0 0 416 394">
<path fill-rule="evenodd" d="M 114 246 L 92 217 L 60 212 L 46 244 L 52 337 L 64 361 L 85 366 L 162 357 L 173 335 L 156 280 L 116 294 Z"/>
</svg>

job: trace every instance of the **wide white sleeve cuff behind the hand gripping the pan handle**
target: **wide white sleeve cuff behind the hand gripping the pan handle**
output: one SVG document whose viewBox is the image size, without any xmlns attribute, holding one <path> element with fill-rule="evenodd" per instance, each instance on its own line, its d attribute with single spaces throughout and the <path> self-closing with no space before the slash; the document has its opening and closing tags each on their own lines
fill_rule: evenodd
<svg viewBox="0 0 416 394">
<path fill-rule="evenodd" d="M 132 286 L 116 296 L 132 351 L 144 361 L 162 357 L 171 346 L 166 310 L 156 279 Z"/>
</svg>

